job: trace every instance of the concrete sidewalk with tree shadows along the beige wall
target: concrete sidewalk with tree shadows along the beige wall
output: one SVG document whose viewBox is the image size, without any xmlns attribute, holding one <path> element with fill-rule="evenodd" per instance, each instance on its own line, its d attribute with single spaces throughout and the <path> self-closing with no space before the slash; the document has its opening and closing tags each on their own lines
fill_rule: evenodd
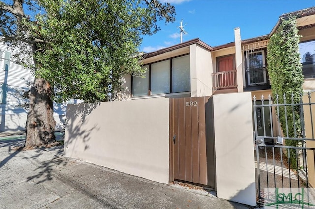
<svg viewBox="0 0 315 209">
<path fill-rule="evenodd" d="M 13 151 L 0 141 L 1 209 L 248 209 L 204 190 L 166 185 L 63 157 L 63 146 Z"/>
</svg>

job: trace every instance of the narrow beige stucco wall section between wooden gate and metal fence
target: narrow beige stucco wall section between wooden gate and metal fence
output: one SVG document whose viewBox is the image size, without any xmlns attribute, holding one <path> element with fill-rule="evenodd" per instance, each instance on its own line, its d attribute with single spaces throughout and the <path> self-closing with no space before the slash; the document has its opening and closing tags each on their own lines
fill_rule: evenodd
<svg viewBox="0 0 315 209">
<path fill-rule="evenodd" d="M 256 205 L 251 93 L 213 95 L 219 198 Z"/>
</svg>

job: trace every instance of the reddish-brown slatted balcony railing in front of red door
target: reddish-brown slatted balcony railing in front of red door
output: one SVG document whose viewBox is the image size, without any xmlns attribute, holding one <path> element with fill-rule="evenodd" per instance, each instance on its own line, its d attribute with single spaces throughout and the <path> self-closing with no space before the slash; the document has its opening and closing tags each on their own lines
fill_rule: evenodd
<svg viewBox="0 0 315 209">
<path fill-rule="evenodd" d="M 212 89 L 236 88 L 236 70 L 223 71 L 212 74 Z"/>
</svg>

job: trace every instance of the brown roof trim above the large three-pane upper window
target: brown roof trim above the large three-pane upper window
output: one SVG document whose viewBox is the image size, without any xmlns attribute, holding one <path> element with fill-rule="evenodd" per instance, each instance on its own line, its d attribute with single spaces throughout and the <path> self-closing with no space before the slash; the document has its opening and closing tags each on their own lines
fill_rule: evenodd
<svg viewBox="0 0 315 209">
<path fill-rule="evenodd" d="M 177 49 L 180 49 L 180 48 L 183 48 L 183 47 L 190 46 L 192 44 L 199 44 L 200 46 L 202 46 L 202 47 L 204 47 L 204 48 L 206 48 L 206 49 L 208 49 L 210 51 L 213 50 L 211 46 L 209 46 L 205 42 L 201 41 L 199 38 L 195 38 L 195 39 L 192 39 L 192 40 L 189 40 L 189 41 L 177 44 L 177 45 L 173 45 L 173 46 L 170 46 L 170 47 L 166 47 L 166 48 L 160 49 L 160 50 L 155 51 L 155 52 L 146 53 L 146 54 L 143 55 L 142 58 L 146 59 L 146 58 L 149 58 L 149 57 L 157 56 L 157 55 L 160 55 L 160 54 L 163 54 L 163 53 L 166 53 L 166 52 L 170 52 L 170 51 L 173 51 L 173 50 L 177 50 Z"/>
</svg>

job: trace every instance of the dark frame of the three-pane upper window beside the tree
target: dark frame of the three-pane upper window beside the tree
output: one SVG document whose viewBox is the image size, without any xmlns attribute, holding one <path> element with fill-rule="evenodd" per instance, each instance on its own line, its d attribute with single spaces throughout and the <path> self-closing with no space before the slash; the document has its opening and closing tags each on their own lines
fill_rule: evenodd
<svg viewBox="0 0 315 209">
<path fill-rule="evenodd" d="M 151 96 L 151 95 L 165 95 L 165 94 L 172 94 L 172 93 L 183 93 L 183 92 L 190 92 L 190 91 L 181 91 L 181 92 L 173 92 L 173 72 L 172 72 L 172 63 L 173 63 L 173 59 L 175 58 L 179 58 L 179 57 L 183 57 L 183 56 L 189 56 L 189 59 L 190 59 L 190 53 L 186 53 L 186 54 L 182 54 L 182 55 L 178 55 L 178 56 L 174 56 L 174 57 L 171 57 L 171 58 L 166 58 L 166 59 L 162 59 L 162 60 L 158 60 L 158 61 L 155 61 L 155 62 L 150 62 L 150 63 L 146 63 L 146 64 L 143 64 L 143 66 L 149 66 L 148 67 L 148 70 L 149 70 L 149 73 L 148 73 L 148 76 L 149 76 L 149 89 L 148 89 L 148 94 L 147 95 L 142 95 L 142 96 L 134 96 L 133 95 L 133 86 L 134 86 L 134 76 L 131 75 L 131 97 L 133 98 L 137 98 L 137 97 L 146 97 L 146 96 Z M 170 79 L 170 83 L 169 83 L 169 88 L 170 88 L 170 92 L 169 93 L 159 93 L 159 94 L 152 94 L 152 91 L 151 91 L 151 65 L 152 64 L 155 64 L 155 63 L 158 63 L 158 62 L 163 62 L 163 61 L 166 61 L 166 60 L 169 60 L 169 79 Z M 190 66 L 189 66 L 189 72 L 190 72 Z M 190 89 L 191 89 L 191 85 L 190 85 Z"/>
</svg>

